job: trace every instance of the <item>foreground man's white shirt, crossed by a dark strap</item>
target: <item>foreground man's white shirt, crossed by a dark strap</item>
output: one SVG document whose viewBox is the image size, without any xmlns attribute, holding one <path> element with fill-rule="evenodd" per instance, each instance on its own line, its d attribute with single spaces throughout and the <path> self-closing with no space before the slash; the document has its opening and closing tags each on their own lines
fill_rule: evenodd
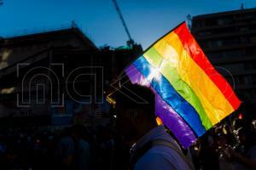
<svg viewBox="0 0 256 170">
<path fill-rule="evenodd" d="M 146 133 L 141 139 L 137 141 L 131 148 L 132 152 L 143 147 L 151 140 L 165 139 L 172 144 L 175 144 L 178 148 L 177 142 L 172 139 L 172 137 L 166 133 L 164 126 L 154 127 Z M 135 164 L 135 170 L 188 170 L 189 165 L 183 160 L 176 150 L 166 146 L 166 145 L 154 145 L 149 149 Z"/>
</svg>

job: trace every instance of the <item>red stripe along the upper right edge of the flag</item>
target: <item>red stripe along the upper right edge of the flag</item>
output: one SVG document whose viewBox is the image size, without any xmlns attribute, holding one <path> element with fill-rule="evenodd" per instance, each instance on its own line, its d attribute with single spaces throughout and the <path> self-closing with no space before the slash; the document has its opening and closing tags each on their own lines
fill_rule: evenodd
<svg viewBox="0 0 256 170">
<path fill-rule="evenodd" d="M 229 100 L 230 105 L 236 110 L 241 104 L 241 101 L 236 97 L 235 92 L 230 87 L 230 84 L 222 77 L 218 71 L 214 69 L 207 56 L 204 54 L 195 38 L 190 34 L 186 23 L 184 22 L 181 26 L 178 26 L 174 32 L 183 43 L 183 47 L 187 53 L 194 59 L 195 63 L 206 72 L 207 76 L 216 84 L 219 90 L 224 94 L 225 98 Z"/>
</svg>

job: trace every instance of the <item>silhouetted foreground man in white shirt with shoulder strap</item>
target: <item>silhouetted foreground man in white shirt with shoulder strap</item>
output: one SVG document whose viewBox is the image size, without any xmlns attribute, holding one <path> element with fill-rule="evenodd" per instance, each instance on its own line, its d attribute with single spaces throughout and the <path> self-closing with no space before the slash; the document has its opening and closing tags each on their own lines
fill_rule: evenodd
<svg viewBox="0 0 256 170">
<path fill-rule="evenodd" d="M 116 96 L 117 129 L 127 144 L 131 145 L 130 169 L 170 170 L 190 169 L 177 142 L 158 126 L 154 115 L 154 94 L 139 85 L 127 87 L 135 97 L 122 93 Z M 120 91 L 125 92 L 125 88 Z"/>
</svg>

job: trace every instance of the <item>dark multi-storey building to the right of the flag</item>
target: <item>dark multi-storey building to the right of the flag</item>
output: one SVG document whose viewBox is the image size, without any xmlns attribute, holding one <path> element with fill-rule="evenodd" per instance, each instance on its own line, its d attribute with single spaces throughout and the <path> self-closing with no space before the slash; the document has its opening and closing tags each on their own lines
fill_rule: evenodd
<svg viewBox="0 0 256 170">
<path fill-rule="evenodd" d="M 193 17 L 191 31 L 235 88 L 242 114 L 256 115 L 256 8 Z"/>
</svg>

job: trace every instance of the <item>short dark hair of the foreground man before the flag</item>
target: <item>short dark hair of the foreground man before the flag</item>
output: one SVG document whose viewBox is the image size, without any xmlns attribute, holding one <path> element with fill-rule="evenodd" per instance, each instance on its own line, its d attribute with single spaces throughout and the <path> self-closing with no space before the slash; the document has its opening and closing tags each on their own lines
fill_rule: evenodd
<svg viewBox="0 0 256 170">
<path fill-rule="evenodd" d="M 155 117 L 154 97 L 150 88 L 138 84 L 126 84 L 117 92 L 115 106 L 124 110 L 143 110 L 149 117 Z"/>
</svg>

